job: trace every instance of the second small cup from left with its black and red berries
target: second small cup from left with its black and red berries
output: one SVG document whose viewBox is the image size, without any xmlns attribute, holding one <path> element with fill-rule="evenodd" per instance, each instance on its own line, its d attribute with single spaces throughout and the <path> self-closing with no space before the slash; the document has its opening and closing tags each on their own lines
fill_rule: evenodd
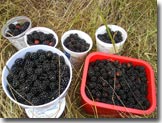
<svg viewBox="0 0 162 123">
<path fill-rule="evenodd" d="M 57 34 L 46 27 L 34 27 L 26 32 L 24 38 L 27 46 L 47 45 L 56 47 L 58 44 Z"/>
</svg>

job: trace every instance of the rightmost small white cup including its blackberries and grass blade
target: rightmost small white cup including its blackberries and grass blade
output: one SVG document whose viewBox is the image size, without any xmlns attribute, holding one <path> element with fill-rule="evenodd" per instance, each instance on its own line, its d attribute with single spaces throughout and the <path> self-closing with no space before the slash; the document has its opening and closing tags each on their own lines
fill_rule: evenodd
<svg viewBox="0 0 162 123">
<path fill-rule="evenodd" d="M 107 25 L 100 26 L 95 33 L 97 51 L 116 54 L 119 53 L 127 39 L 127 32 L 120 26 Z M 109 33 L 107 33 L 109 32 Z"/>
</svg>

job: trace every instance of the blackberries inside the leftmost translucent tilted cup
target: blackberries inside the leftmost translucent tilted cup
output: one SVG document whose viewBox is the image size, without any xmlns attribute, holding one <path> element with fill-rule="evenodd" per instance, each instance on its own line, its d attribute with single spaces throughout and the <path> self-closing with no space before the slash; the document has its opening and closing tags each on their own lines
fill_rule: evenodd
<svg viewBox="0 0 162 123">
<path fill-rule="evenodd" d="M 28 21 L 24 23 L 17 23 L 17 24 L 10 24 L 8 26 L 9 30 L 6 33 L 7 37 L 17 36 L 24 32 L 28 27 L 30 23 Z"/>
</svg>

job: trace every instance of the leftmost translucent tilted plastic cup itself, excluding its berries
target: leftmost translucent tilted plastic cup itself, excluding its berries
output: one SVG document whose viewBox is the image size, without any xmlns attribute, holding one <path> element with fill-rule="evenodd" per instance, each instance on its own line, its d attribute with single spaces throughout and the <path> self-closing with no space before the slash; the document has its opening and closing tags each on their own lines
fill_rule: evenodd
<svg viewBox="0 0 162 123">
<path fill-rule="evenodd" d="M 13 36 L 13 37 L 7 37 L 6 36 L 6 32 L 9 30 L 8 26 L 10 24 L 17 24 L 19 22 L 24 22 L 24 21 L 28 21 L 30 24 L 28 26 L 28 28 L 22 32 L 21 34 L 17 35 L 17 36 Z M 26 17 L 26 16 L 17 16 L 17 17 L 14 17 L 14 18 L 11 18 L 10 20 L 7 21 L 7 23 L 2 27 L 2 35 L 4 38 L 8 39 L 11 44 L 13 46 L 15 46 L 18 50 L 22 49 L 22 48 L 25 48 L 27 47 L 25 41 L 24 41 L 24 35 L 25 33 L 31 28 L 32 26 L 32 23 L 31 23 L 31 20 Z"/>
</svg>

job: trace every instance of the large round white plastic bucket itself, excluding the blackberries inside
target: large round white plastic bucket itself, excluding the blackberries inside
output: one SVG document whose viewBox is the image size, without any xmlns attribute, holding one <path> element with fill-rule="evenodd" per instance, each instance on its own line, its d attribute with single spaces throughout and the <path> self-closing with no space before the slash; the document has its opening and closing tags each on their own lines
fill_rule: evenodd
<svg viewBox="0 0 162 123">
<path fill-rule="evenodd" d="M 27 48 L 24 48 L 20 51 L 18 51 L 17 53 L 15 53 L 6 63 L 6 65 L 8 66 L 8 68 L 10 69 L 12 67 L 12 65 L 14 64 L 14 61 L 17 58 L 21 58 L 24 57 L 26 52 L 36 52 L 37 50 L 42 49 L 45 51 L 52 51 L 53 53 L 57 53 L 60 56 L 63 56 L 65 59 L 66 64 L 69 66 L 70 68 L 70 79 L 69 79 L 69 83 L 66 87 L 66 89 L 63 91 L 62 94 L 60 94 L 59 97 L 57 97 L 55 100 L 43 104 L 43 105 L 38 105 L 38 106 L 29 106 L 29 105 L 24 105 L 22 103 L 17 102 L 16 100 L 14 100 L 8 90 L 7 90 L 7 75 L 8 75 L 8 70 L 6 68 L 6 66 L 3 68 L 3 72 L 2 72 L 2 87 L 4 92 L 6 93 L 6 95 L 16 104 L 18 104 L 19 106 L 25 108 L 25 111 L 27 113 L 27 115 L 30 118 L 58 118 L 61 116 L 61 114 L 64 111 L 65 108 L 65 96 L 66 93 L 70 87 L 70 83 L 72 80 L 72 67 L 71 67 L 71 63 L 69 61 L 69 59 L 65 56 L 64 53 L 62 53 L 60 50 L 53 48 L 51 46 L 45 46 L 45 45 L 36 45 L 36 46 L 30 46 Z"/>
</svg>

